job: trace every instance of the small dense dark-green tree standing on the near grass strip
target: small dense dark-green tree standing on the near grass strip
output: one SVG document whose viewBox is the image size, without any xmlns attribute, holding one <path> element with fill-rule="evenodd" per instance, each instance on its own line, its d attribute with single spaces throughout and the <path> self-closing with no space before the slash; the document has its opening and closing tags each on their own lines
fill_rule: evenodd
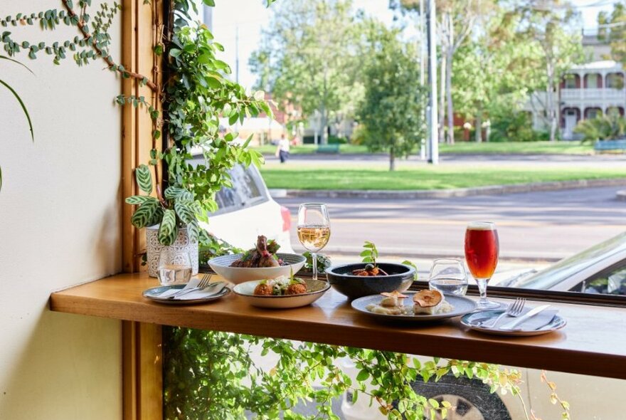
<svg viewBox="0 0 626 420">
<path fill-rule="evenodd" d="M 365 95 L 359 122 L 372 152 L 388 150 L 389 170 L 408 155 L 424 134 L 423 90 L 415 48 L 398 41 L 398 32 L 373 25 L 371 53 L 364 70 Z"/>
</svg>

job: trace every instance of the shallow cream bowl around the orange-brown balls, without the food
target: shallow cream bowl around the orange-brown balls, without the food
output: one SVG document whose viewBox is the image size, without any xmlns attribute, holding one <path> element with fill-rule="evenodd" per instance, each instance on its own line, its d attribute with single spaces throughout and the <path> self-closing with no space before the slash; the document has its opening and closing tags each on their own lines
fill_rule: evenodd
<svg viewBox="0 0 626 420">
<path fill-rule="evenodd" d="M 240 295 L 250 305 L 257 306 L 258 308 L 274 308 L 274 309 L 287 309 L 287 308 L 299 308 L 300 306 L 311 305 L 316 300 L 322 297 L 324 293 L 330 288 L 329 283 L 323 280 L 313 280 L 312 278 L 303 279 L 304 283 L 307 283 L 307 293 L 302 295 L 285 295 L 285 296 L 260 296 L 255 295 L 254 290 L 259 283 L 263 280 L 247 281 L 235 285 L 233 292 Z"/>
</svg>

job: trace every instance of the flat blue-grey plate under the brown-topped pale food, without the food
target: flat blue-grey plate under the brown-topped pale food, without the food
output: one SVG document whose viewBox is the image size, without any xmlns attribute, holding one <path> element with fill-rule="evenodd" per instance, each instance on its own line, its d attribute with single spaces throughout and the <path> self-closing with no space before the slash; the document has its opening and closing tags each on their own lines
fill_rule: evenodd
<svg viewBox="0 0 626 420">
<path fill-rule="evenodd" d="M 407 303 L 413 302 L 413 295 L 415 292 L 404 292 L 408 298 L 405 298 Z M 452 312 L 447 313 L 437 313 L 435 315 L 385 315 L 382 313 L 373 313 L 366 309 L 367 305 L 380 303 L 383 296 L 381 295 L 371 295 L 365 296 L 364 298 L 359 298 L 352 301 L 352 308 L 358 310 L 359 312 L 366 313 L 367 315 L 371 315 L 378 319 L 382 320 L 394 320 L 394 321 L 404 321 L 404 322 L 428 322 L 435 320 L 443 320 L 445 318 L 458 317 L 460 315 L 465 315 L 467 313 L 472 312 L 476 309 L 476 302 L 469 298 L 465 298 L 463 296 L 457 295 L 447 295 L 445 294 L 445 300 L 447 303 L 450 303 L 454 309 Z"/>
</svg>

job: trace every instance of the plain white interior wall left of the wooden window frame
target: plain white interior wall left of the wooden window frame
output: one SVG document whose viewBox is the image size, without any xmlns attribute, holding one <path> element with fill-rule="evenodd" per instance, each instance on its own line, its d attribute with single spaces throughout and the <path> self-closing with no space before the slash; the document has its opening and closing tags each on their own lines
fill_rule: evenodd
<svg viewBox="0 0 626 420">
<path fill-rule="evenodd" d="M 60 7 L 0 0 L 2 16 Z M 31 43 L 77 34 L 5 30 Z M 120 56 L 118 45 L 112 53 Z M 51 291 L 121 268 L 120 80 L 101 61 L 78 68 L 45 54 L 20 59 L 35 75 L 0 60 L 0 79 L 23 98 L 35 132 L 33 143 L 0 86 L 0 419 L 120 419 L 120 322 L 48 310 Z"/>
</svg>

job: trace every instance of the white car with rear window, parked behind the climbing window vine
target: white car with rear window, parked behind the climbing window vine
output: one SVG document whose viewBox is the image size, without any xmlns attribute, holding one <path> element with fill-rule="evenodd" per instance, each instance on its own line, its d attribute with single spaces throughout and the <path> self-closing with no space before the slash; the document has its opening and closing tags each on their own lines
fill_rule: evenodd
<svg viewBox="0 0 626 420">
<path fill-rule="evenodd" d="M 218 211 L 201 224 L 203 229 L 243 249 L 254 248 L 257 236 L 265 235 L 277 241 L 281 252 L 293 253 L 290 211 L 272 199 L 258 169 L 237 165 L 229 173 L 233 187 L 216 194 Z"/>
</svg>

